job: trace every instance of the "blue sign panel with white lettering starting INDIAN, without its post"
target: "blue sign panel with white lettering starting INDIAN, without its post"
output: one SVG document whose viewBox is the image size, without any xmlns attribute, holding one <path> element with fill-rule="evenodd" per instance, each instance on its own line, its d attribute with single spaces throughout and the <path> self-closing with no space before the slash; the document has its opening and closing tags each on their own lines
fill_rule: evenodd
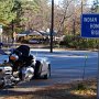
<svg viewBox="0 0 99 99">
<path fill-rule="evenodd" d="M 99 14 L 81 15 L 81 36 L 99 37 Z"/>
</svg>

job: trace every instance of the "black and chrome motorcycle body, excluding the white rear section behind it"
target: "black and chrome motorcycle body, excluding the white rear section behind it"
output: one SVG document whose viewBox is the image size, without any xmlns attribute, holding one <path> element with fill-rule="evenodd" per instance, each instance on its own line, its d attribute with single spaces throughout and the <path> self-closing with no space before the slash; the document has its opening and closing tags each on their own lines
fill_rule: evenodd
<svg viewBox="0 0 99 99">
<path fill-rule="evenodd" d="M 23 55 L 26 52 L 28 56 L 24 56 L 24 58 Z M 33 56 L 29 55 L 29 46 L 21 45 L 11 52 L 9 62 L 4 61 L 0 65 L 0 87 L 14 86 L 20 81 L 28 81 L 33 78 L 35 63 Z"/>
</svg>

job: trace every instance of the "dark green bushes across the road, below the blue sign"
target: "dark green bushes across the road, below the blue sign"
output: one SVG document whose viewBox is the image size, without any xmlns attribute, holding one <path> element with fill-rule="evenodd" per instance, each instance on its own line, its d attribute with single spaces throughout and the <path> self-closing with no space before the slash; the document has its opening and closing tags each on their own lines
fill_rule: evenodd
<svg viewBox="0 0 99 99">
<path fill-rule="evenodd" d="M 81 38 L 80 36 L 76 35 L 66 35 L 64 41 L 59 43 L 61 46 L 68 47 L 68 48 L 97 48 L 97 41 L 92 38 Z"/>
</svg>

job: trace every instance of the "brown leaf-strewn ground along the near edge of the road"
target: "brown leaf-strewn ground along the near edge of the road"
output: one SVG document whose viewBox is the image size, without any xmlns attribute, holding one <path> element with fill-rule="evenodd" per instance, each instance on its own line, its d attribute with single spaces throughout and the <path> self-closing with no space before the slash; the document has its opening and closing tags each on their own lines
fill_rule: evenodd
<svg viewBox="0 0 99 99">
<path fill-rule="evenodd" d="M 96 99 L 96 79 L 87 79 L 54 85 L 35 91 L 13 92 L 2 99 Z"/>
</svg>

